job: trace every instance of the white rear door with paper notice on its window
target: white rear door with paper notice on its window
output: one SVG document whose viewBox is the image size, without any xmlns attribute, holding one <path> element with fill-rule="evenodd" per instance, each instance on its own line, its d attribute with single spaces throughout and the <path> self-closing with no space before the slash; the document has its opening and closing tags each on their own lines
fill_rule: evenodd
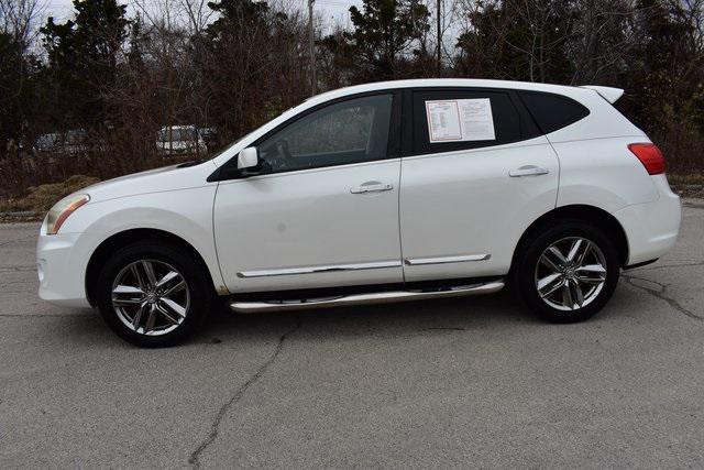
<svg viewBox="0 0 704 470">
<path fill-rule="evenodd" d="M 512 90 L 416 89 L 405 100 L 405 280 L 506 274 L 526 228 L 556 206 L 550 143 Z"/>
</svg>

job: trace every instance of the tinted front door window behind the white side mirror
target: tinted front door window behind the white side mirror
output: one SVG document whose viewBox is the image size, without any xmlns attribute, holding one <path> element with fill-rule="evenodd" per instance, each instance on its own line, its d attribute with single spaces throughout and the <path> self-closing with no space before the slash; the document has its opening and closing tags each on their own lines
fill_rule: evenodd
<svg viewBox="0 0 704 470">
<path fill-rule="evenodd" d="M 257 144 L 263 173 L 344 165 L 386 157 L 393 95 L 318 109 Z"/>
</svg>

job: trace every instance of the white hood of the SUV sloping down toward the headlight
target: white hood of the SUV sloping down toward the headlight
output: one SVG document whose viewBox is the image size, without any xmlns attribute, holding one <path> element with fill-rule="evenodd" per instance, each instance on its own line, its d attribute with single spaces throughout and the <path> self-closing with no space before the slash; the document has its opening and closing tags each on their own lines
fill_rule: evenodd
<svg viewBox="0 0 704 470">
<path fill-rule="evenodd" d="M 216 171 L 211 161 L 194 166 L 169 165 L 146 172 L 120 176 L 88 186 L 78 194 L 90 195 L 90 203 L 116 199 L 119 197 L 136 196 L 147 193 L 186 189 L 210 185 L 206 178 Z"/>
</svg>

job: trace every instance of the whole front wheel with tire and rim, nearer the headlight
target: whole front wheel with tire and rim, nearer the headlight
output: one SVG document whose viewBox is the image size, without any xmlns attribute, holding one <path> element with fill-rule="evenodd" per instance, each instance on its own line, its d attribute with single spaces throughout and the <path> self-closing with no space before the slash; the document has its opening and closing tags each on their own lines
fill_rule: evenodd
<svg viewBox="0 0 704 470">
<path fill-rule="evenodd" d="M 211 293 L 197 260 L 154 242 L 116 252 L 98 280 L 98 308 L 121 338 L 142 347 L 177 345 L 193 335 Z"/>
</svg>

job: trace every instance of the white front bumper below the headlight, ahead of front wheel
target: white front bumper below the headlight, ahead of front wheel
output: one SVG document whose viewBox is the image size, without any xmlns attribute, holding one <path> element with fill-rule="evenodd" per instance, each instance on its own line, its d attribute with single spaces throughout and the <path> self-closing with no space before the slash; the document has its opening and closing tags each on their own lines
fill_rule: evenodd
<svg viewBox="0 0 704 470">
<path fill-rule="evenodd" d="M 80 249 L 81 237 L 81 233 L 47 236 L 44 220 L 36 243 L 40 298 L 64 307 L 90 307 L 85 282 L 90 255 L 86 258 Z"/>
</svg>

